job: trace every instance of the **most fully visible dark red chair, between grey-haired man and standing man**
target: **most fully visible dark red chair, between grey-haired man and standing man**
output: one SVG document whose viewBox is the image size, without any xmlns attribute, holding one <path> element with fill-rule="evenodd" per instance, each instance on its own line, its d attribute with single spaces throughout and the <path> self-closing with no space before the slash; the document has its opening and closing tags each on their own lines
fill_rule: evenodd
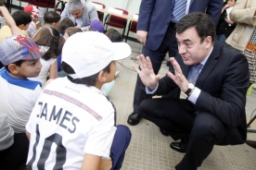
<svg viewBox="0 0 256 170">
<path fill-rule="evenodd" d="M 117 8 L 117 7 L 115 7 L 115 9 L 122 10 L 122 14 L 124 14 L 124 15 L 128 15 L 129 14 L 127 10 L 124 10 L 124 9 L 121 9 L 121 8 Z M 106 22 L 106 20 L 108 20 L 108 21 Z M 125 29 L 126 29 L 126 23 L 127 23 L 127 19 L 126 18 L 120 18 L 120 17 L 117 17 L 115 15 L 108 15 L 105 18 L 104 25 L 105 24 L 107 25 L 106 30 L 108 30 L 108 25 L 111 26 L 111 27 L 122 29 L 122 38 L 123 38 L 124 37 Z"/>
</svg>

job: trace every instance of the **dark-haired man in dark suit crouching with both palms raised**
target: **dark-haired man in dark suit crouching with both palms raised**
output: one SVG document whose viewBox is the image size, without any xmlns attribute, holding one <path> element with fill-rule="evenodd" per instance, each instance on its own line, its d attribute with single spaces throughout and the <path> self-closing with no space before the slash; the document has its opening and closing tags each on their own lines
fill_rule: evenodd
<svg viewBox="0 0 256 170">
<path fill-rule="evenodd" d="M 171 143 L 186 152 L 176 169 L 197 169 L 215 144 L 241 144 L 246 140 L 246 92 L 250 71 L 244 55 L 228 44 L 214 42 L 214 24 L 206 14 L 191 13 L 176 25 L 178 55 L 160 79 L 149 57 L 138 56 L 134 67 L 148 94 L 163 95 L 178 87 L 187 99 L 144 100 L 138 113 L 160 127 Z"/>
</svg>

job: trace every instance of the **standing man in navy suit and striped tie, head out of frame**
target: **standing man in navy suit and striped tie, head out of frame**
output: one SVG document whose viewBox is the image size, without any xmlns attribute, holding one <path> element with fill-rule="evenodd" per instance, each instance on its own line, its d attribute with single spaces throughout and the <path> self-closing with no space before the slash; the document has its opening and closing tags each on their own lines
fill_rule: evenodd
<svg viewBox="0 0 256 170">
<path fill-rule="evenodd" d="M 217 25 L 223 3 L 223 0 L 142 0 L 136 34 L 138 41 L 145 45 L 142 54 L 149 56 L 155 74 L 158 74 L 167 52 L 170 57 L 176 54 L 177 42 L 174 28 L 176 22 L 187 13 L 205 12 Z M 128 124 L 139 123 L 140 116 L 137 109 L 139 104 L 147 98 L 151 96 L 147 95 L 145 86 L 140 79 L 137 79 L 134 91 L 134 112 L 129 115 Z"/>
</svg>

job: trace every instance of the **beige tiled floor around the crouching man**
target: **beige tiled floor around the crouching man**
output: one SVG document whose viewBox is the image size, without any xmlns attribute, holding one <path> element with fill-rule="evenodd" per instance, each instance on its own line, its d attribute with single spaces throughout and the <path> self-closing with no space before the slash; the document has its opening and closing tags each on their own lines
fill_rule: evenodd
<svg viewBox="0 0 256 170">
<path fill-rule="evenodd" d="M 141 52 L 141 45 L 129 42 L 134 52 Z M 137 66 L 134 53 L 117 64 L 120 76 L 115 80 L 115 87 L 109 93 L 109 98 L 117 107 L 118 124 L 128 126 L 133 134 L 130 146 L 126 152 L 122 170 L 173 170 L 184 154 L 174 152 L 170 148 L 171 137 L 160 134 L 160 130 L 151 122 L 143 119 L 137 126 L 129 126 L 126 121 L 133 112 L 134 85 L 136 73 L 131 70 Z M 163 62 L 160 75 L 164 76 L 168 70 Z M 181 97 L 184 97 L 181 95 Z M 247 96 L 246 114 L 248 121 L 251 113 L 256 109 L 256 91 Z M 256 112 L 254 112 L 254 115 Z M 256 128 L 256 120 L 251 126 Z M 255 133 L 248 133 L 249 140 L 256 140 Z M 236 146 L 215 146 L 209 157 L 201 164 L 199 170 L 252 170 L 256 169 L 256 150 L 246 144 Z M 27 168 L 24 168 L 27 170 Z"/>
</svg>

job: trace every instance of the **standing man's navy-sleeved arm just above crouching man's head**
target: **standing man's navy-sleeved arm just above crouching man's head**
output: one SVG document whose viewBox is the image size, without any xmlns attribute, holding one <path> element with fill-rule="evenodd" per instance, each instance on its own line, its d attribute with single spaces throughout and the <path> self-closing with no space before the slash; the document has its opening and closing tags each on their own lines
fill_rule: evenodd
<svg viewBox="0 0 256 170">
<path fill-rule="evenodd" d="M 217 26 L 224 6 L 223 0 L 211 0 L 206 9 L 206 14 L 211 17 L 214 25 Z"/>
</svg>

